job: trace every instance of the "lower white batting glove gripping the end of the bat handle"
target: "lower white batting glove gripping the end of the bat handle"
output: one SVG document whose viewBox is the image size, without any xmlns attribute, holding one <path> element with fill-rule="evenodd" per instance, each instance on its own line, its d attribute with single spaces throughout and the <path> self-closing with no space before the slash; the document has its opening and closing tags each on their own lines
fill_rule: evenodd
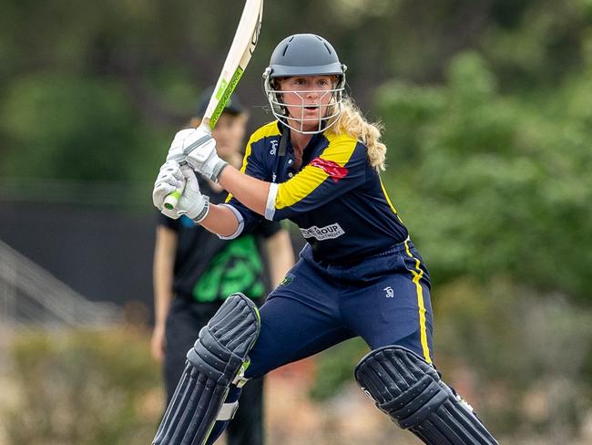
<svg viewBox="0 0 592 445">
<path fill-rule="evenodd" d="M 179 203 L 174 209 L 164 207 L 165 198 L 172 191 L 180 190 Z M 152 192 L 152 201 L 162 214 L 174 220 L 187 215 L 194 222 L 200 223 L 209 212 L 209 197 L 199 191 L 198 179 L 187 166 L 169 160 L 160 168 Z"/>
</svg>

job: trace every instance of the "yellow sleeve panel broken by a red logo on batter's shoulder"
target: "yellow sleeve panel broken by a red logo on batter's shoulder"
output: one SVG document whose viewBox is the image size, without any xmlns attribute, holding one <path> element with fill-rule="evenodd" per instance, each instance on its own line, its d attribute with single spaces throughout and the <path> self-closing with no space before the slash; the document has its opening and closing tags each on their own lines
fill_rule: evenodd
<svg viewBox="0 0 592 445">
<path fill-rule="evenodd" d="M 322 152 L 320 157 L 323 160 L 331 160 L 343 167 L 352 158 L 357 140 L 346 135 L 335 136 L 332 133 L 325 134 L 325 137 L 329 140 L 329 146 Z M 322 168 L 307 165 L 294 178 L 280 184 L 275 208 L 279 210 L 301 202 L 327 178 L 329 178 L 329 174 L 323 171 Z"/>
</svg>

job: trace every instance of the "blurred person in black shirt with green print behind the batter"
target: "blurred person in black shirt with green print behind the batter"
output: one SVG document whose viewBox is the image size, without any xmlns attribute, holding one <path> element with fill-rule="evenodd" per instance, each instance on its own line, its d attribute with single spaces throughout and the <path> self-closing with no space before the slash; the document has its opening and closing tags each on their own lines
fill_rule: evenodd
<svg viewBox="0 0 592 445">
<path fill-rule="evenodd" d="M 199 126 L 212 88 L 199 99 L 197 117 L 189 127 Z M 222 158 L 235 167 L 242 160 L 248 114 L 232 96 L 213 134 Z M 212 203 L 224 202 L 228 193 L 199 175 L 199 187 Z M 272 258 L 271 258 L 272 255 Z M 272 261 L 268 261 L 268 259 Z M 234 292 L 263 303 L 270 287 L 280 283 L 293 264 L 289 234 L 280 223 L 262 222 L 250 234 L 225 240 L 184 216 L 177 220 L 158 216 L 154 254 L 155 328 L 152 355 L 163 363 L 167 403 L 183 372 L 186 354 L 199 336 L 199 329 Z M 263 378 L 245 388 L 240 405 L 228 428 L 229 445 L 263 443 Z"/>
</svg>

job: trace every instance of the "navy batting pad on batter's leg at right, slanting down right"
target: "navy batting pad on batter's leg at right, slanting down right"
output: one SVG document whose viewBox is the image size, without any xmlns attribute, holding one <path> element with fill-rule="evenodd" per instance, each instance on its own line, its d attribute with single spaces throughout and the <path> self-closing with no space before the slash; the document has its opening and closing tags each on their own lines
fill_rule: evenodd
<svg viewBox="0 0 592 445">
<path fill-rule="evenodd" d="M 409 349 L 373 350 L 354 374 L 379 409 L 428 445 L 498 445 L 473 409 Z"/>
</svg>

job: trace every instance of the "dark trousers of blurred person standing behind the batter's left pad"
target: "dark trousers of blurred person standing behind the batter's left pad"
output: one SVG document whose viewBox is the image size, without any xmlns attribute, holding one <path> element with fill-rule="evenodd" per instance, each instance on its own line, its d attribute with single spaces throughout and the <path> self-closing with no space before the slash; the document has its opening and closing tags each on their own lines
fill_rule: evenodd
<svg viewBox="0 0 592 445">
<path fill-rule="evenodd" d="M 167 405 L 185 367 L 186 355 L 198 339 L 199 329 L 214 316 L 220 304 L 201 304 L 175 298 L 168 312 L 165 349 Z M 242 388 L 239 409 L 227 430 L 228 445 L 262 445 L 263 378 L 254 378 Z"/>
</svg>

